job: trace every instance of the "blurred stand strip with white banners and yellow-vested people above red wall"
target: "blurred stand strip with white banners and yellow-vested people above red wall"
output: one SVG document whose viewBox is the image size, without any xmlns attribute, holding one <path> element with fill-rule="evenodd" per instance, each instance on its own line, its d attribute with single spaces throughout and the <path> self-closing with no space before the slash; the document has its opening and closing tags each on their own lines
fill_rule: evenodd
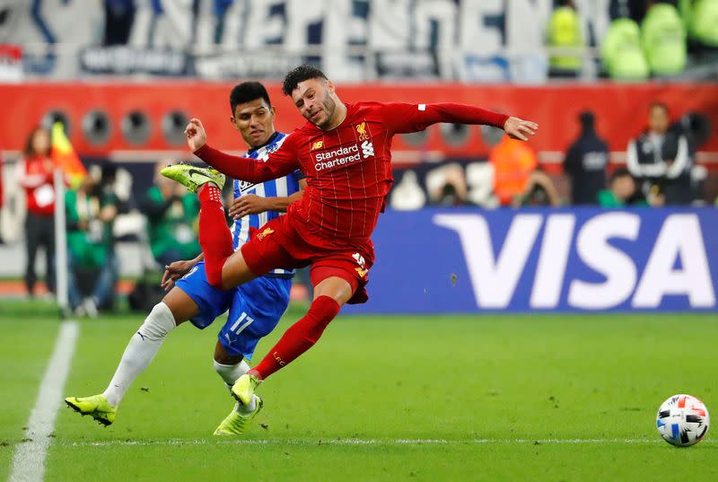
<svg viewBox="0 0 718 482">
<path fill-rule="evenodd" d="M 697 80 L 718 75 L 717 23 L 718 0 L 18 1 L 0 77 L 276 79 L 309 61 L 354 82 Z"/>
</svg>

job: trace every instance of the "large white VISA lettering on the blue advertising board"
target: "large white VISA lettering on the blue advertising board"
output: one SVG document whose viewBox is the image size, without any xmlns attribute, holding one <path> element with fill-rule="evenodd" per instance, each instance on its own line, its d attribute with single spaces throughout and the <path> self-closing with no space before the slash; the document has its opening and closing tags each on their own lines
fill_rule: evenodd
<svg viewBox="0 0 718 482">
<path fill-rule="evenodd" d="M 515 215 L 496 249 L 484 216 L 435 215 L 433 222 L 459 234 L 479 308 L 646 310 L 661 308 L 666 296 L 677 295 L 692 308 L 714 308 L 698 216 L 652 218 L 657 219 L 661 224 L 648 230 L 658 229 L 657 234 L 639 239 L 645 220 L 629 212 L 595 215 L 578 227 L 574 214 Z M 529 299 L 516 299 L 532 252 L 538 259 Z"/>
</svg>

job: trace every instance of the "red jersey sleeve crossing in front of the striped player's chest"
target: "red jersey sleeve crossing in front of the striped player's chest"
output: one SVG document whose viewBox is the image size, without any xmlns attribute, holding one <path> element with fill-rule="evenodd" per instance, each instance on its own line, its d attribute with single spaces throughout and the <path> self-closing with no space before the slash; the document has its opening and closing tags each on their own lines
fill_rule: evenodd
<svg viewBox="0 0 718 482">
<path fill-rule="evenodd" d="M 279 149 L 267 154 L 267 162 L 223 153 L 209 145 L 197 149 L 195 155 L 217 171 L 236 180 L 264 182 L 282 178 L 299 169 L 297 149 L 292 141 L 292 136 L 288 136 Z"/>
</svg>

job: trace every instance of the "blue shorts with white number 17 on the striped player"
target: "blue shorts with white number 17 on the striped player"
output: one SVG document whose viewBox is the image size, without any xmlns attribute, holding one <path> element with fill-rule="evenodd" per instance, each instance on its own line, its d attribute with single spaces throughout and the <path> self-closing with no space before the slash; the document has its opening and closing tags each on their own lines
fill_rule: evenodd
<svg viewBox="0 0 718 482">
<path fill-rule="evenodd" d="M 198 329 L 206 329 L 229 310 L 217 338 L 228 354 L 242 355 L 250 360 L 259 338 L 275 329 L 285 314 L 292 279 L 260 276 L 224 291 L 209 284 L 205 262 L 200 261 L 176 286 L 197 303 L 199 312 L 190 321 Z"/>
</svg>

